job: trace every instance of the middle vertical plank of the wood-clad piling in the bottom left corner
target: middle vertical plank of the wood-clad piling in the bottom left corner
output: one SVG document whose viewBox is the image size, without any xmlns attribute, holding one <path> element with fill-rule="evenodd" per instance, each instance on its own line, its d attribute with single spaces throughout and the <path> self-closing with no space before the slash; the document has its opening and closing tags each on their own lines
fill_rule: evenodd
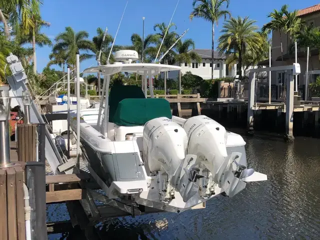
<svg viewBox="0 0 320 240">
<path fill-rule="evenodd" d="M 16 240 L 16 204 L 15 204 L 15 170 L 6 170 L 6 199 L 7 199 L 7 227 L 8 240 Z"/>
</svg>

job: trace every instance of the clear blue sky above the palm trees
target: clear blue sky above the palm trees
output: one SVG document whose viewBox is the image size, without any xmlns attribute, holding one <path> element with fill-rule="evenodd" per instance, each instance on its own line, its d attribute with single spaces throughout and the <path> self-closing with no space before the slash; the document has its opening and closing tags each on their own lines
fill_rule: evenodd
<svg viewBox="0 0 320 240">
<path fill-rule="evenodd" d="M 130 44 L 130 36 L 136 32 L 142 34 L 142 17 L 145 17 L 145 35 L 152 33 L 153 25 L 158 22 L 169 22 L 177 0 L 129 0 L 115 44 Z M 89 38 L 95 35 L 96 28 L 108 27 L 108 32 L 115 35 L 126 0 L 44 0 L 41 6 L 42 18 L 51 26 L 42 28 L 53 41 L 54 36 L 62 32 L 65 26 L 71 26 L 75 31 L 86 30 Z M 230 0 L 229 10 L 233 16 L 249 16 L 261 27 L 268 21 L 266 15 L 279 9 L 282 4 L 289 8 L 301 9 L 317 3 L 320 0 L 288 1 L 288 0 Z M 180 0 L 172 22 L 177 25 L 177 32 L 182 33 L 190 28 L 183 38 L 192 38 L 196 48 L 211 48 L 211 26 L 203 19 L 189 20 L 192 10 L 192 0 Z M 223 24 L 220 19 L 215 28 L 215 45 L 219 30 Z M 50 47 L 37 47 L 37 71 L 41 72 L 48 62 Z M 96 64 L 95 59 L 81 62 L 81 70 Z M 52 66 L 58 69 L 58 66 Z"/>
</svg>

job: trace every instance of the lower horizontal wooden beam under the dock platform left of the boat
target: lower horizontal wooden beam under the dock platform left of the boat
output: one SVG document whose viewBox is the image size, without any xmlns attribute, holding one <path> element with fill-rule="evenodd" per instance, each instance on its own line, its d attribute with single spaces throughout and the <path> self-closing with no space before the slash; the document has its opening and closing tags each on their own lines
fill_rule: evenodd
<svg viewBox="0 0 320 240">
<path fill-rule="evenodd" d="M 60 191 L 47 191 L 45 192 L 46 203 L 81 200 L 86 196 L 85 189 L 69 189 Z"/>
</svg>

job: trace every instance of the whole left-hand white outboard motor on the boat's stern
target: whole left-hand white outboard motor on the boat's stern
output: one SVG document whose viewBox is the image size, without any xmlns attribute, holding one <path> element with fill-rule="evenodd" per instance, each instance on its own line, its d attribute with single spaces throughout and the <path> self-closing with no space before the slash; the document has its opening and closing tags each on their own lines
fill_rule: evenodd
<svg viewBox="0 0 320 240">
<path fill-rule="evenodd" d="M 168 202 L 174 197 L 171 178 L 185 158 L 187 136 L 184 129 L 167 117 L 145 123 L 143 129 L 143 159 L 157 176 L 159 198 Z"/>
</svg>

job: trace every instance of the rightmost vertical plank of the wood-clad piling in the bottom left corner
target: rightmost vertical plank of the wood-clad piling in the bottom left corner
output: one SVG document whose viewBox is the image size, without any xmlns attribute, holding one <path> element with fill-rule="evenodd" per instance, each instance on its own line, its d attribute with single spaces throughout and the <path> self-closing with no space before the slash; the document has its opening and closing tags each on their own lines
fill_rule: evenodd
<svg viewBox="0 0 320 240">
<path fill-rule="evenodd" d="M 16 221 L 17 236 L 19 240 L 25 240 L 25 218 L 24 218 L 24 192 L 23 192 L 23 170 L 15 166 L 15 191 L 16 191 Z"/>
</svg>

